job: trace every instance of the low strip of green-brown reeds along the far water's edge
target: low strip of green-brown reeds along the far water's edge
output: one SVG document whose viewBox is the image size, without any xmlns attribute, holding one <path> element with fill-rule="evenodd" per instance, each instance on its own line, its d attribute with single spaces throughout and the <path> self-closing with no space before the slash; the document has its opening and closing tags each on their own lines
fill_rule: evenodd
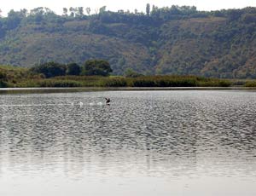
<svg viewBox="0 0 256 196">
<path fill-rule="evenodd" d="M 63 76 L 23 79 L 3 87 L 229 87 L 229 80 L 195 76 L 143 76 L 138 78 Z"/>
</svg>

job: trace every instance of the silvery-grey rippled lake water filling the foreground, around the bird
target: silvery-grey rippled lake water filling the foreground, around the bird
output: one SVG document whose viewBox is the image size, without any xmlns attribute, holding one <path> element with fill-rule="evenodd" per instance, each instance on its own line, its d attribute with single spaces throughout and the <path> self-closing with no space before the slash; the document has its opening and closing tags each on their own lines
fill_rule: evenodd
<svg viewBox="0 0 256 196">
<path fill-rule="evenodd" d="M 0 195 L 256 195 L 256 92 L 0 97 Z"/>
</svg>

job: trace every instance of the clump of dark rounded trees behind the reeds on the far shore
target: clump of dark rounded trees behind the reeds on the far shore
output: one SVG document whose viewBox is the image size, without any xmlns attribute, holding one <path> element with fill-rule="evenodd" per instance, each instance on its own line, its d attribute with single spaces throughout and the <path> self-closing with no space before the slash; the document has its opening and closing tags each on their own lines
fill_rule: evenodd
<svg viewBox="0 0 256 196">
<path fill-rule="evenodd" d="M 33 66 L 30 69 L 35 74 L 43 74 L 45 78 L 56 76 L 109 76 L 113 72 L 108 61 L 88 60 L 84 65 L 79 66 L 77 63 L 61 64 L 50 61 L 44 64 Z"/>
</svg>

